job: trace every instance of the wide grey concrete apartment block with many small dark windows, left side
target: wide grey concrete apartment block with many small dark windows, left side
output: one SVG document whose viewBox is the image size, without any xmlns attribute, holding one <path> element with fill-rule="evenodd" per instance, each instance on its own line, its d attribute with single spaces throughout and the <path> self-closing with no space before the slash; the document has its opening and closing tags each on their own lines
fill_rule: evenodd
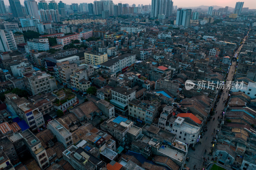
<svg viewBox="0 0 256 170">
<path fill-rule="evenodd" d="M 33 74 L 26 74 L 27 87 L 33 95 L 38 93 L 52 92 L 57 89 L 56 79 L 46 72 L 36 71 Z"/>
</svg>

